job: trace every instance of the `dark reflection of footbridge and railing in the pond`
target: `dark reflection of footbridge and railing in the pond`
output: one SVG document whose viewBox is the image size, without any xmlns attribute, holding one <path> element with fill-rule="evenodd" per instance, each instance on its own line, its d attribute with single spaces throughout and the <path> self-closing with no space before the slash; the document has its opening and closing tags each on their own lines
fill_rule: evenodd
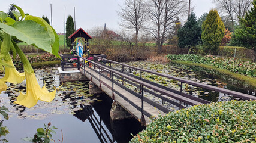
<svg viewBox="0 0 256 143">
<path fill-rule="evenodd" d="M 76 113 L 74 116 L 77 119 L 82 122 L 88 120 L 100 142 L 128 142 L 132 138 L 130 133 L 138 133 L 144 129 L 144 126 L 141 126 L 134 119 L 125 120 L 125 124 L 110 120 L 110 115 L 106 113 L 110 112 L 112 100 L 106 96 L 101 97 L 101 100 L 104 102 L 98 102 L 94 105 L 80 105 L 82 110 L 74 111 Z M 134 129 L 131 129 L 131 126 L 134 126 Z"/>
</svg>

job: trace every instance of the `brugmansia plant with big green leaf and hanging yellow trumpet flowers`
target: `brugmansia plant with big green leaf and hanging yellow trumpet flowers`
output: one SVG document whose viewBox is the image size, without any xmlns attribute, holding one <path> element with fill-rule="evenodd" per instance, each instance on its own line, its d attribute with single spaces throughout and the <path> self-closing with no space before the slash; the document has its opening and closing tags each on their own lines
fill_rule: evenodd
<svg viewBox="0 0 256 143">
<path fill-rule="evenodd" d="M 49 92 L 45 86 L 40 87 L 28 58 L 14 40 L 19 39 L 59 57 L 59 38 L 55 30 L 43 18 L 25 14 L 17 5 L 14 7 L 19 10 L 12 11 L 16 21 L 10 18 L 10 15 L 0 11 L 0 70 L 5 73 L 0 79 L 0 93 L 7 89 L 5 82 L 17 84 L 26 79 L 26 94 L 20 92 L 15 103 L 30 108 L 37 104 L 38 100 L 52 101 L 55 98 L 56 89 Z M 19 73 L 14 67 L 10 51 L 14 58 L 16 54 L 19 55 L 24 73 Z"/>
</svg>

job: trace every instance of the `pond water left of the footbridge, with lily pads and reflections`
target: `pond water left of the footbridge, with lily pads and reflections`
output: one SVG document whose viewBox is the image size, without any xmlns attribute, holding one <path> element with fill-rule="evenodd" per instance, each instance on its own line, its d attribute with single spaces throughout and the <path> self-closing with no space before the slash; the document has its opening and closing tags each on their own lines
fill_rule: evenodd
<svg viewBox="0 0 256 143">
<path fill-rule="evenodd" d="M 45 81 L 50 91 L 60 84 L 56 68 L 38 69 L 35 73 L 38 83 L 43 86 Z M 44 123 L 49 122 L 58 128 L 53 134 L 55 142 L 62 139 L 61 130 L 64 142 L 128 142 L 131 133 L 135 135 L 144 129 L 135 119 L 112 122 L 112 99 L 106 94 L 89 94 L 88 82 L 64 83 L 52 102 L 38 101 L 32 108 L 13 103 L 19 95 L 15 89 L 25 92 L 25 81 L 9 84 L 0 97 L 0 105 L 10 110 L 10 119 L 3 123 L 10 131 L 6 138 L 9 142 L 26 142 L 22 139 L 34 136 L 37 128 L 44 128 Z"/>
</svg>

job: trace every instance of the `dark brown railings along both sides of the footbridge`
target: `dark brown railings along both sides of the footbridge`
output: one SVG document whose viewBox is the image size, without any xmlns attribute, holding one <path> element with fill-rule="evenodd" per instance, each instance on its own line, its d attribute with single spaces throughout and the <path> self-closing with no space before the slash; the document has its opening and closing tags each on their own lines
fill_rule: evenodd
<svg viewBox="0 0 256 143">
<path fill-rule="evenodd" d="M 80 57 L 80 58 L 82 58 L 82 57 Z M 101 59 L 100 61 L 106 61 L 107 63 L 110 64 L 110 66 L 107 66 L 103 62 L 98 62 L 98 59 Z M 88 64 L 86 64 L 86 62 L 89 62 L 91 64 L 88 65 Z M 92 67 L 92 64 L 93 64 L 93 67 Z M 112 64 L 119 64 L 121 66 L 121 70 L 120 69 L 115 69 L 114 67 L 112 67 Z M 140 77 L 135 76 L 135 75 L 130 74 L 130 73 L 126 73 L 124 71 L 125 67 L 135 69 L 135 70 L 140 70 Z M 89 68 L 90 70 L 89 71 L 85 70 L 85 68 Z M 98 56 L 94 56 L 94 61 L 88 60 L 86 58 L 82 58 L 82 62 L 80 62 L 80 71 L 84 72 L 84 74 L 87 73 L 87 74 L 91 75 L 91 80 L 92 80 L 92 77 L 94 77 L 94 79 L 97 79 L 100 83 L 100 88 L 101 88 L 101 85 L 105 85 L 107 88 L 111 89 L 113 100 L 115 100 L 115 95 L 119 95 L 124 100 L 129 102 L 129 104 L 131 104 L 133 107 L 137 108 L 137 110 L 141 111 L 141 118 L 142 119 L 143 119 L 144 115 L 146 115 L 147 117 L 152 116 L 149 112 L 144 110 L 144 102 L 147 102 L 148 104 L 152 105 L 153 107 L 158 108 L 159 110 L 163 111 L 164 113 L 168 113 L 169 111 L 171 111 L 170 108 L 164 107 L 164 105 L 158 104 L 157 102 L 152 101 L 149 98 L 145 97 L 144 92 L 152 94 L 155 97 L 160 98 L 163 102 L 168 102 L 168 103 L 170 103 L 172 105 L 175 105 L 179 108 L 187 108 L 188 107 L 187 105 L 197 105 L 197 104 L 210 103 L 210 101 L 203 100 L 201 98 L 198 98 L 198 97 L 195 97 L 193 95 L 189 95 L 189 94 L 186 94 L 185 92 L 183 92 L 183 90 L 182 90 L 182 84 L 183 83 L 188 83 L 190 85 L 198 86 L 198 87 L 201 87 L 201 88 L 215 90 L 215 91 L 218 91 L 218 92 L 222 92 L 224 94 L 232 95 L 234 97 L 242 98 L 244 100 L 250 100 L 250 99 L 256 100 L 256 97 L 254 97 L 252 95 L 242 94 L 242 93 L 239 93 L 239 92 L 230 91 L 228 89 L 218 88 L 218 87 L 211 86 L 211 85 L 206 85 L 206 84 L 203 84 L 203 83 L 192 82 L 190 80 L 181 79 L 179 77 L 173 77 L 173 76 L 169 76 L 167 74 L 157 73 L 155 71 L 150 71 L 150 70 L 146 70 L 146 69 L 141 69 L 139 67 L 129 66 L 129 65 L 124 64 L 124 63 L 118 63 L 116 61 L 108 60 L 106 58 L 102 58 L 102 57 L 98 57 Z M 92 71 L 98 73 L 98 75 L 97 76 L 93 75 Z M 109 75 L 104 74 L 104 72 L 106 72 Z M 150 82 L 149 80 L 143 79 L 142 78 L 142 73 L 143 72 L 152 73 L 152 74 L 155 74 L 155 75 L 158 75 L 158 76 L 167 77 L 168 79 L 174 79 L 174 80 L 180 81 L 181 82 L 180 91 L 177 91 L 176 89 L 171 89 L 171 88 L 168 88 L 164 85 L 160 85 L 158 83 Z M 107 84 L 106 82 L 101 80 L 102 77 L 104 77 L 105 79 L 110 80 L 112 85 Z M 122 83 L 116 81 L 114 79 L 114 77 L 116 77 L 117 79 L 121 79 Z M 135 86 L 136 88 L 140 89 L 140 91 L 135 92 L 135 91 L 127 88 L 124 85 L 124 82 L 127 82 L 127 83 Z M 115 89 L 114 85 L 118 85 L 119 87 L 121 87 L 121 88 L 125 89 L 126 91 L 130 92 L 135 97 L 140 98 L 141 99 L 141 104 L 140 104 L 141 106 L 139 107 L 136 103 L 134 103 L 131 100 L 129 100 L 128 98 L 124 97 L 124 95 L 122 95 L 122 93 L 119 93 Z"/>
</svg>

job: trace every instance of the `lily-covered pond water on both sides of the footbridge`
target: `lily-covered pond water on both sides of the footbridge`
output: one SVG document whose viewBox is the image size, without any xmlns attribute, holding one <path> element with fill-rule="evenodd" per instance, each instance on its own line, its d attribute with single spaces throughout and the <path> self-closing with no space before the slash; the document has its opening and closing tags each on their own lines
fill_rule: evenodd
<svg viewBox="0 0 256 143">
<path fill-rule="evenodd" d="M 246 83 L 239 82 L 220 73 L 214 73 L 212 70 L 201 69 L 200 67 L 158 64 L 145 61 L 128 64 L 255 95 L 255 88 L 249 87 Z M 60 85 L 58 70 L 55 67 L 37 69 L 35 73 L 38 83 L 43 86 L 45 81 L 46 87 L 50 91 L 53 91 L 54 86 L 58 87 Z M 131 73 L 137 75 L 140 71 L 134 70 Z M 221 76 L 218 77 L 216 75 Z M 146 73 L 143 73 L 143 77 L 170 88 L 177 90 L 180 88 L 179 82 L 168 80 L 164 77 Z M 89 94 L 88 86 L 88 82 L 66 82 L 56 92 L 56 97 L 52 102 L 38 101 L 38 104 L 34 107 L 25 108 L 13 104 L 17 95 L 19 95 L 16 89 L 25 92 L 25 81 L 20 85 L 9 84 L 7 91 L 3 91 L 0 96 L 0 105 L 5 105 L 10 110 L 8 113 L 10 119 L 4 120 L 3 123 L 10 130 L 7 140 L 9 142 L 26 142 L 22 138 L 34 136 L 37 128 L 43 128 L 44 123 L 47 124 L 49 122 L 58 128 L 56 135 L 53 134 L 53 139 L 56 142 L 59 142 L 58 139 L 62 139 L 61 130 L 64 142 L 128 142 L 132 138 L 131 133 L 135 135 L 144 129 L 135 119 L 112 122 L 109 115 L 112 99 L 105 94 Z M 231 97 L 218 92 L 186 84 L 183 86 L 184 92 L 209 101 L 231 99 Z M 158 99 L 153 98 L 153 100 Z"/>
</svg>

